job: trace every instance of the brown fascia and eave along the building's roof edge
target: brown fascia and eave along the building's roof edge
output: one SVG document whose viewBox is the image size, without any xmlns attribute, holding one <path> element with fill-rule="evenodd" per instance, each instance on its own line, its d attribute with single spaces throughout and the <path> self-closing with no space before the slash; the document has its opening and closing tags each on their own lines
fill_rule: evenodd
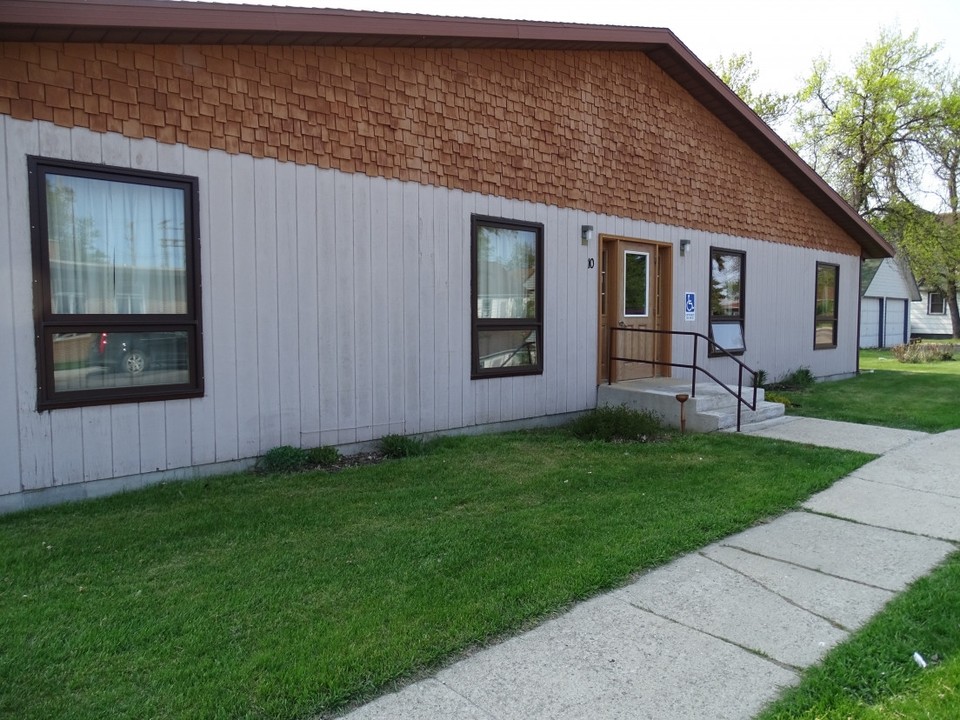
<svg viewBox="0 0 960 720">
<path fill-rule="evenodd" d="M 0 41 L 641 51 L 856 239 L 863 257 L 894 255 L 876 230 L 664 28 L 182 0 L 0 0 Z"/>
</svg>

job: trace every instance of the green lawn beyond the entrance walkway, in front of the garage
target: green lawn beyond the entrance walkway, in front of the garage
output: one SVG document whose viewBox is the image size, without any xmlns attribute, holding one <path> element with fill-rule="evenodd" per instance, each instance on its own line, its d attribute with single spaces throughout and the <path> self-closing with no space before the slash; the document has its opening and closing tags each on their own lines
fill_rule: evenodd
<svg viewBox="0 0 960 720">
<path fill-rule="evenodd" d="M 859 376 L 778 394 L 791 415 L 941 432 L 960 428 L 960 361 L 904 364 L 861 351 Z"/>
</svg>

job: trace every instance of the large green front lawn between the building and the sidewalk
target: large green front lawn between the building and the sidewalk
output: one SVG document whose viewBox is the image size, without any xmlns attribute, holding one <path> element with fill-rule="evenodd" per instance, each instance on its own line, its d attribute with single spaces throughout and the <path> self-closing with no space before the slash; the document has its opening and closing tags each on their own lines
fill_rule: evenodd
<svg viewBox="0 0 960 720">
<path fill-rule="evenodd" d="M 868 459 L 448 438 L 0 518 L 0 716 L 302 718 L 795 507 Z"/>
</svg>

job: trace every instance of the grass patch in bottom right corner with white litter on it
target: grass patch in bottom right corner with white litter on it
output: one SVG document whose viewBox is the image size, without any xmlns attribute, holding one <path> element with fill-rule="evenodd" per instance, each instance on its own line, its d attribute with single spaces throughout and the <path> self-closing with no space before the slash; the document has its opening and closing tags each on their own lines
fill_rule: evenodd
<svg viewBox="0 0 960 720">
<path fill-rule="evenodd" d="M 758 720 L 960 717 L 960 554 L 808 670 Z M 929 663 L 921 669 L 913 653 Z"/>
</svg>

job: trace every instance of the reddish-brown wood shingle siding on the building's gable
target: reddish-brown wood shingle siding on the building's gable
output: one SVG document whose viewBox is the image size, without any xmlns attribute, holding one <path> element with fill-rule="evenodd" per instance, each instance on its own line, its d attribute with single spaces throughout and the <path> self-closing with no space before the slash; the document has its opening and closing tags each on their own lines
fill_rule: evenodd
<svg viewBox="0 0 960 720">
<path fill-rule="evenodd" d="M 6 42 L 0 114 L 860 253 L 636 51 Z"/>
</svg>

